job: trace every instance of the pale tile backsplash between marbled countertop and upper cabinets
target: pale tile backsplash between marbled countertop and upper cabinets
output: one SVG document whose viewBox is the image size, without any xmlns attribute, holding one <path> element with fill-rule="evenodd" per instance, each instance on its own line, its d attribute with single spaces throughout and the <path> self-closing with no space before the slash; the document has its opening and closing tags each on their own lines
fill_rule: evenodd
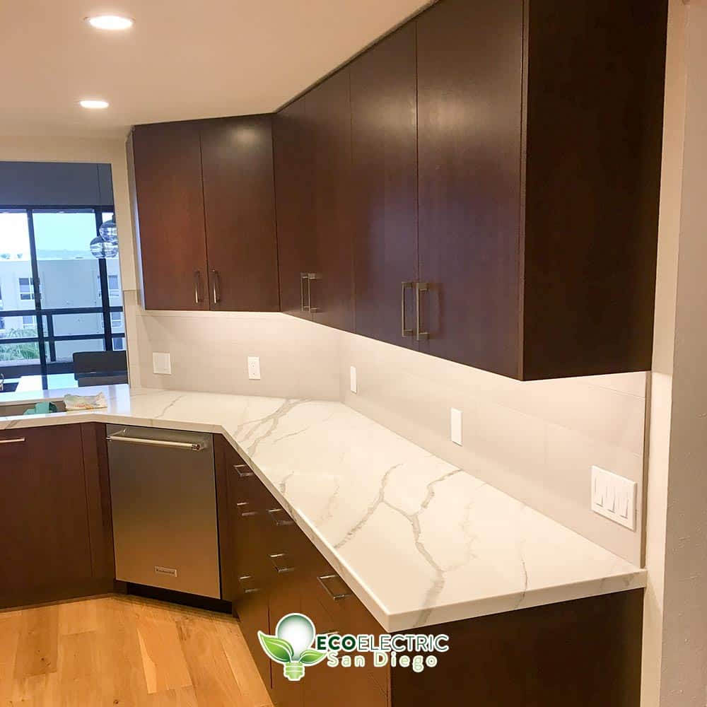
<svg viewBox="0 0 707 707">
<path fill-rule="evenodd" d="M 592 465 L 638 482 L 646 374 L 519 382 L 279 313 L 145 312 L 126 293 L 133 385 L 341 400 L 597 544 L 641 562 L 643 529 L 592 513 Z M 152 373 L 169 351 L 172 374 Z M 257 355 L 262 380 L 249 380 Z M 351 366 L 357 393 L 351 392 Z M 266 373 L 267 372 L 267 373 Z M 450 440 L 463 411 L 463 447 Z"/>
</svg>

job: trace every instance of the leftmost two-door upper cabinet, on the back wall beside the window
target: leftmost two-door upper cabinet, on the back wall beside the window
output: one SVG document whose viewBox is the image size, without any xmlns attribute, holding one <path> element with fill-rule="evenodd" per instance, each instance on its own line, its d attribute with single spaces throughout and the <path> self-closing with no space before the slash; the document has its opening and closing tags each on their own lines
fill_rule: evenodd
<svg viewBox="0 0 707 707">
<path fill-rule="evenodd" d="M 133 153 L 145 307 L 279 310 L 272 116 L 140 125 Z"/>
</svg>

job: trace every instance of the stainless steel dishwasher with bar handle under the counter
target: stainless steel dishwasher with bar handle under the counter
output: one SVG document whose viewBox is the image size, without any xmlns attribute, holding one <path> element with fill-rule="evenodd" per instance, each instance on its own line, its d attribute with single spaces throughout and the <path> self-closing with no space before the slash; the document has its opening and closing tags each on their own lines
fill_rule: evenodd
<svg viewBox="0 0 707 707">
<path fill-rule="evenodd" d="M 211 435 L 106 431 L 116 579 L 220 599 Z"/>
</svg>

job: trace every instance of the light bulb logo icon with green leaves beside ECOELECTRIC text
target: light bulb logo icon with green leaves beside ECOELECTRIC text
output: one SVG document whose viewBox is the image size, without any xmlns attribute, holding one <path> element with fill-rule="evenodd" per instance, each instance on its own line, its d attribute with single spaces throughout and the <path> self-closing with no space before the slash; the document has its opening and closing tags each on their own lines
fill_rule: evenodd
<svg viewBox="0 0 707 707">
<path fill-rule="evenodd" d="M 284 675 L 292 682 L 304 677 L 306 666 L 317 665 L 327 657 L 327 653 L 311 647 L 316 635 L 314 624 L 304 614 L 282 617 L 277 622 L 274 636 L 258 631 L 263 650 L 271 660 L 284 666 Z"/>
</svg>

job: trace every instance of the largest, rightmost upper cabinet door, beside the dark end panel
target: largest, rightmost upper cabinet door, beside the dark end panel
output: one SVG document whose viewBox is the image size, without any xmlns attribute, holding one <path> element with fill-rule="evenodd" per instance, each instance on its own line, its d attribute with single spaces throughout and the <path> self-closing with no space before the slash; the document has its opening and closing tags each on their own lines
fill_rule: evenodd
<svg viewBox="0 0 707 707">
<path fill-rule="evenodd" d="M 523 4 L 445 0 L 417 28 L 421 351 L 517 376 Z"/>
</svg>

